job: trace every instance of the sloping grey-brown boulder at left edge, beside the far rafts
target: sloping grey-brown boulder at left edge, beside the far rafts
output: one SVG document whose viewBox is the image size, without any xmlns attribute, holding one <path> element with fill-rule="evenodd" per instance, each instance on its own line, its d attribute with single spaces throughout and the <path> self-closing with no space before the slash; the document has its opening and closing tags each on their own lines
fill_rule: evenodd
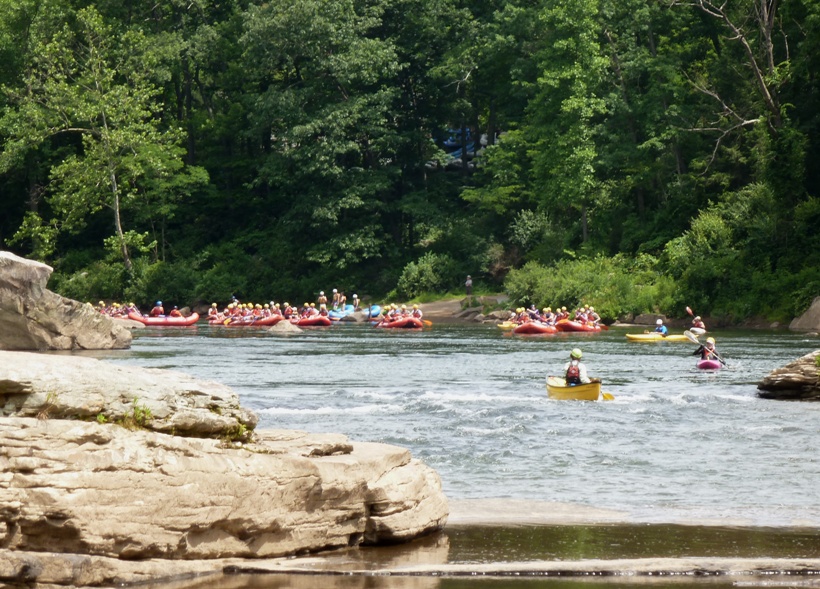
<svg viewBox="0 0 820 589">
<path fill-rule="evenodd" d="M 46 289 L 50 266 L 0 252 L 0 350 L 127 348 L 131 333 Z"/>
</svg>

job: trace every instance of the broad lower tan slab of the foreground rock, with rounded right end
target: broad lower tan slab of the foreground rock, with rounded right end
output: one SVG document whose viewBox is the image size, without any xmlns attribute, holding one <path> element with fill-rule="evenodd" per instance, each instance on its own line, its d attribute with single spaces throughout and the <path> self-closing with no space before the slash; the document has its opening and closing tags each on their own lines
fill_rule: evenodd
<svg viewBox="0 0 820 589">
<path fill-rule="evenodd" d="M 438 475 L 407 450 L 340 435 L 270 430 L 225 444 L 4 418 L 0 465 L 12 552 L 269 558 L 410 540 L 448 513 Z"/>
</svg>

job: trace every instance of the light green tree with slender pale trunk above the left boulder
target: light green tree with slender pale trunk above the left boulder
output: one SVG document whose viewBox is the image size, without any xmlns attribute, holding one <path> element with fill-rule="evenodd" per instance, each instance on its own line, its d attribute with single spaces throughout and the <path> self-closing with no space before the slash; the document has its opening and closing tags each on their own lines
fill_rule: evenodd
<svg viewBox="0 0 820 589">
<path fill-rule="evenodd" d="M 184 168 L 181 132 L 163 128 L 158 90 L 151 82 L 149 41 L 125 31 L 119 42 L 93 9 L 43 38 L 31 49 L 20 88 L 5 87 L 14 104 L 0 127 L 7 134 L 0 170 L 56 142 L 71 149 L 50 169 L 46 200 L 53 216 L 28 213 L 17 239 L 36 237 L 37 254 L 49 256 L 59 235 L 81 231 L 89 217 L 111 211 L 110 244 L 130 273 L 132 249 L 147 250 L 147 234 L 128 228 L 129 209 L 172 215 L 174 202 L 206 181 Z"/>
</svg>

